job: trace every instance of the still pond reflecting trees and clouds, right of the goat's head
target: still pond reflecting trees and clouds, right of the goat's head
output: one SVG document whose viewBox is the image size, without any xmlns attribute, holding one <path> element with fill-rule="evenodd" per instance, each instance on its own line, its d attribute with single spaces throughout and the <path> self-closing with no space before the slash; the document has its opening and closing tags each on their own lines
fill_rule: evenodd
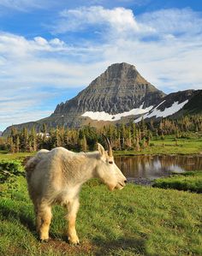
<svg viewBox="0 0 202 256">
<path fill-rule="evenodd" d="M 115 162 L 128 178 L 156 179 L 171 172 L 202 170 L 202 156 L 116 157 Z"/>
</svg>

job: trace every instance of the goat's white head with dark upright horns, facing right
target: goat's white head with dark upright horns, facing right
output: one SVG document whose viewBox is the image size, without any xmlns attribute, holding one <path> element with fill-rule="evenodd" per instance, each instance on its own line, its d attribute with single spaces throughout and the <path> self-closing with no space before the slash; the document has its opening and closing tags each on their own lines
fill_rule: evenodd
<svg viewBox="0 0 202 256">
<path fill-rule="evenodd" d="M 106 140 L 108 144 L 108 152 L 105 152 L 104 147 L 98 144 L 99 163 L 97 166 L 97 175 L 111 191 L 114 188 L 122 189 L 125 187 L 127 179 L 115 164 L 110 141 L 107 138 Z"/>
</svg>

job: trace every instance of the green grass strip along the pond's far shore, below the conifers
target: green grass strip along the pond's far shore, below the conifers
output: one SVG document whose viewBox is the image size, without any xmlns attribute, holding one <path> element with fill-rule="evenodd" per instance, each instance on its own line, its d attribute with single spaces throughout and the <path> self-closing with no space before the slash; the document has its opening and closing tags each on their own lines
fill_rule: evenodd
<svg viewBox="0 0 202 256">
<path fill-rule="evenodd" d="M 202 137 L 179 139 L 175 146 L 174 136 L 165 136 L 164 140 L 151 140 L 151 145 L 146 149 L 137 151 L 117 151 L 116 156 L 139 154 L 200 154 L 202 153 Z"/>
</svg>

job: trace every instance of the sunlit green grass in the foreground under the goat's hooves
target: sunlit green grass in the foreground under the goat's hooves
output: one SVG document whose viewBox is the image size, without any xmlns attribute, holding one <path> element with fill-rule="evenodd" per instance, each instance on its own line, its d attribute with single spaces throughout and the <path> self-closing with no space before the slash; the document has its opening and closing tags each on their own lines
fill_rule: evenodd
<svg viewBox="0 0 202 256">
<path fill-rule="evenodd" d="M 202 200 L 197 193 L 128 184 L 110 192 L 97 181 L 80 193 L 80 246 L 65 241 L 65 211 L 55 206 L 52 240 L 41 244 L 34 229 L 26 181 L 0 185 L 0 255 L 201 255 Z"/>
</svg>

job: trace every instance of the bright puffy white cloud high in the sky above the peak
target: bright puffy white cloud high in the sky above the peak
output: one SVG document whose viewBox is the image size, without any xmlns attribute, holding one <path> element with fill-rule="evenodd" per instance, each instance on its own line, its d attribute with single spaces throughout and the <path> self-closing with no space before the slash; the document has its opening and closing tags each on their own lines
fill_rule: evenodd
<svg viewBox="0 0 202 256">
<path fill-rule="evenodd" d="M 102 6 L 80 7 L 78 9 L 64 9 L 60 13 L 60 19 L 54 26 L 56 33 L 78 32 L 87 27 L 97 26 L 103 31 L 110 31 L 113 36 L 122 33 L 152 33 L 153 29 L 141 23 L 137 23 L 131 9 L 117 7 L 104 9 Z M 109 34 L 108 34 L 109 36 Z"/>
</svg>

